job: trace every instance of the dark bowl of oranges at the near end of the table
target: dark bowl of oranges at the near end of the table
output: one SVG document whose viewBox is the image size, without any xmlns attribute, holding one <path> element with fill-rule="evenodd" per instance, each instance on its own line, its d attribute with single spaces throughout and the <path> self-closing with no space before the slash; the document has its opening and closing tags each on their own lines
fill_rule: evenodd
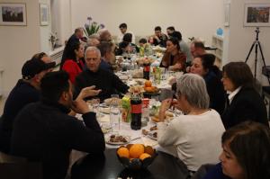
<svg viewBox="0 0 270 179">
<path fill-rule="evenodd" d="M 157 157 L 157 152 L 143 144 L 129 144 L 117 148 L 116 155 L 121 165 L 131 170 L 147 169 Z"/>
</svg>

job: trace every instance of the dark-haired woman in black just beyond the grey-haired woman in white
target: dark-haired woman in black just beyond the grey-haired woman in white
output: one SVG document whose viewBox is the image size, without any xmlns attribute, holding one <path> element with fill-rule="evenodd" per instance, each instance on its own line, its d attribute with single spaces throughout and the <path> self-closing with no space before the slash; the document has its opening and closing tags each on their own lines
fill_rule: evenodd
<svg viewBox="0 0 270 179">
<path fill-rule="evenodd" d="M 210 108 L 222 114 L 225 106 L 225 91 L 221 83 L 220 69 L 213 65 L 215 56 L 204 54 L 193 59 L 190 72 L 202 76 L 210 98 Z"/>
</svg>

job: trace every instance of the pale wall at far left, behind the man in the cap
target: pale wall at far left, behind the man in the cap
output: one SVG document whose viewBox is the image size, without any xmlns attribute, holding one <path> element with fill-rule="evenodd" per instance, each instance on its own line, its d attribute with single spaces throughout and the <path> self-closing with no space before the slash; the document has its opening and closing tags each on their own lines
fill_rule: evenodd
<svg viewBox="0 0 270 179">
<path fill-rule="evenodd" d="M 7 2 L 0 0 L 0 3 Z M 9 3 L 18 3 L 9 0 Z M 25 60 L 40 51 L 39 3 L 33 0 L 21 0 L 26 3 L 27 26 L 0 26 L 0 61 L 4 68 L 4 96 L 22 77 L 21 69 Z M 1 64 L 0 63 L 0 64 Z"/>
</svg>

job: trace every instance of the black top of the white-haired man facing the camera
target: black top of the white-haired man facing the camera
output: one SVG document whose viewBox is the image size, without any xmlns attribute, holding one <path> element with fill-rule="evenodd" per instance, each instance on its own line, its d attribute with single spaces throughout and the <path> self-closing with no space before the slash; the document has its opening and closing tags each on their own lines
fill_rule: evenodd
<svg viewBox="0 0 270 179">
<path fill-rule="evenodd" d="M 101 101 L 110 98 L 111 94 L 125 94 L 129 89 L 129 86 L 125 85 L 118 76 L 99 67 L 97 72 L 86 69 L 76 76 L 74 97 L 76 97 L 84 87 L 91 85 L 95 85 L 96 89 L 102 90 L 102 92 L 96 96 L 100 98 Z"/>
</svg>

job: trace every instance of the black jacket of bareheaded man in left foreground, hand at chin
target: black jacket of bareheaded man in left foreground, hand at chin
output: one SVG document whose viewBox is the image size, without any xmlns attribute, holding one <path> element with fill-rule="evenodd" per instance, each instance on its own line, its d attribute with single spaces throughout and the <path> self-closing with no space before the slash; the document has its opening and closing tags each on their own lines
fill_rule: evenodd
<svg viewBox="0 0 270 179">
<path fill-rule="evenodd" d="M 59 103 L 42 101 L 27 105 L 14 121 L 11 154 L 38 161 L 43 179 L 64 179 L 72 149 L 103 153 L 103 132 L 94 112 L 83 115 L 83 121 L 67 115 Z"/>
</svg>

